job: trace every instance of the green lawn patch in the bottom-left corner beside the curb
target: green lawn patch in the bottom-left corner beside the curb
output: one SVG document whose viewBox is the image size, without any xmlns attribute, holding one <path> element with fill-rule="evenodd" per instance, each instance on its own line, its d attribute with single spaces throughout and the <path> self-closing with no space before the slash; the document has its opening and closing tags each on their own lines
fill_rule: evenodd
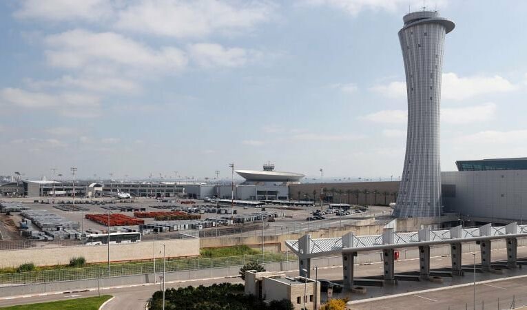
<svg viewBox="0 0 527 310">
<path fill-rule="evenodd" d="M 3 307 L 0 309 L 8 310 L 56 310 L 56 309 L 75 309 L 75 310 L 97 310 L 106 300 L 112 298 L 110 295 L 98 297 L 76 298 L 60 300 L 54 302 L 41 302 L 39 304 L 21 304 L 19 306 Z"/>
</svg>

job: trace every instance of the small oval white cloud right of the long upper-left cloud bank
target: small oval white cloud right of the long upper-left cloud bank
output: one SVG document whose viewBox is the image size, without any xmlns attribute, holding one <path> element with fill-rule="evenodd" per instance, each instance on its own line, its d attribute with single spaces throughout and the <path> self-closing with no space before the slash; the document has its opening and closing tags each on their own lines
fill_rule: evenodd
<svg viewBox="0 0 527 310">
<path fill-rule="evenodd" d="M 238 67 L 259 53 L 243 48 L 224 48 L 214 43 L 196 43 L 187 47 L 189 56 L 202 68 Z"/>
</svg>

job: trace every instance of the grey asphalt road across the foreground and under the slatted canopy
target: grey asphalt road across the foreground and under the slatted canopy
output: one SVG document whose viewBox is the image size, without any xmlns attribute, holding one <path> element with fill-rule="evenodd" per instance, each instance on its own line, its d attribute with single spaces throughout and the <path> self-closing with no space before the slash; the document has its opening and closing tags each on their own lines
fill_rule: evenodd
<svg viewBox="0 0 527 310">
<path fill-rule="evenodd" d="M 503 260 L 506 258 L 506 251 L 504 249 L 493 251 L 493 260 Z M 527 257 L 527 247 L 518 248 L 518 257 Z M 471 254 L 463 255 L 463 263 L 465 265 L 471 265 L 473 262 L 473 256 Z M 432 268 L 449 267 L 451 264 L 451 258 L 445 257 L 434 257 L 431 259 Z M 401 260 L 395 263 L 395 270 L 399 272 L 417 271 L 419 269 L 419 262 L 417 259 Z M 355 266 L 355 277 L 365 276 L 380 276 L 382 275 L 382 263 L 373 263 L 371 265 L 358 265 Z M 298 270 L 286 272 L 288 276 L 297 276 Z M 503 275 L 494 273 L 476 273 L 477 281 L 495 280 L 504 276 L 522 276 L 527 274 L 527 269 L 517 269 L 505 271 Z M 448 309 L 448 305 L 454 306 L 457 304 L 465 305 L 472 304 L 473 294 L 471 293 L 471 287 L 462 287 L 458 289 L 448 289 L 445 291 L 432 291 L 428 293 L 415 293 L 410 296 L 394 297 L 389 300 L 375 300 L 380 296 L 393 295 L 406 293 L 408 291 L 421 291 L 423 289 L 437 289 L 441 287 L 449 287 L 451 285 L 466 285 L 473 281 L 473 273 L 466 273 L 463 277 L 444 278 L 444 283 L 438 284 L 433 282 L 402 282 L 398 285 L 387 285 L 386 287 L 367 287 L 368 292 L 366 295 L 358 295 L 348 292 L 342 294 L 335 294 L 335 297 L 346 297 L 349 300 L 360 300 L 369 299 L 368 302 L 361 304 L 354 304 L 353 309 L 397 309 L 396 307 L 404 307 L 406 309 Z M 314 274 L 313 274 L 314 276 Z M 342 279 L 342 267 L 324 267 L 318 269 L 318 278 L 326 278 L 329 280 L 340 280 Z M 510 283 L 509 283 L 510 281 Z M 521 284 L 520 280 L 504 280 L 495 284 L 489 282 L 477 286 L 477 295 L 485 296 L 485 307 L 487 302 L 490 306 L 492 302 L 495 302 L 497 307 L 497 297 L 502 296 L 513 296 L 521 295 L 521 291 L 524 292 L 524 298 L 527 300 L 527 278 L 523 278 L 524 284 Z M 187 280 L 178 282 L 167 282 L 166 287 L 186 287 L 188 285 L 211 285 L 220 282 L 236 282 L 241 283 L 240 278 L 211 278 L 211 279 L 199 279 L 199 280 Z M 145 303 L 148 298 L 152 296 L 154 291 L 160 289 L 159 284 L 148 284 L 148 285 L 129 285 L 123 287 L 112 287 L 101 289 L 101 294 L 110 294 L 115 296 L 114 300 L 109 302 L 105 309 L 144 309 Z M 453 291 L 454 293 L 448 293 Z M 45 302 L 50 300 L 63 300 L 68 298 L 81 298 L 88 296 L 98 295 L 97 289 L 84 292 L 72 292 L 72 293 L 60 293 L 50 295 L 36 295 L 36 296 L 13 296 L 10 298 L 0 298 L 1 306 L 9 306 L 14 304 L 27 304 L 34 302 Z M 417 295 L 417 296 L 414 296 Z M 487 298 L 488 296 L 488 298 Z M 400 299 L 401 298 L 401 299 Z M 427 299 L 428 298 L 428 299 Z M 322 299 L 325 300 L 325 296 L 322 295 Z M 450 302 L 450 304 L 448 304 Z M 502 302 L 505 302 L 502 299 Z M 384 308 L 383 308 L 384 307 Z M 395 308 L 394 308 L 395 307 Z M 430 308 L 426 308 L 430 307 Z M 492 309 L 497 309 L 496 307 Z M 399 308 L 399 309 L 400 309 Z M 454 309 L 451 307 L 451 309 Z M 458 308 L 460 309 L 460 308 Z M 489 308 L 490 309 L 490 308 Z"/>
</svg>

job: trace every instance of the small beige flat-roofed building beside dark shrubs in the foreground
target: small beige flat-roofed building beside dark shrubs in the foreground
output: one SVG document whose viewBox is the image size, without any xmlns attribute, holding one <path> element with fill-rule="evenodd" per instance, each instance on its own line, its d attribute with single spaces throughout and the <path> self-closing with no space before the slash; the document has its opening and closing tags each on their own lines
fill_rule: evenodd
<svg viewBox="0 0 527 310">
<path fill-rule="evenodd" d="M 245 271 L 245 294 L 267 302 L 287 299 L 296 310 L 320 308 L 320 282 L 284 273 Z"/>
</svg>

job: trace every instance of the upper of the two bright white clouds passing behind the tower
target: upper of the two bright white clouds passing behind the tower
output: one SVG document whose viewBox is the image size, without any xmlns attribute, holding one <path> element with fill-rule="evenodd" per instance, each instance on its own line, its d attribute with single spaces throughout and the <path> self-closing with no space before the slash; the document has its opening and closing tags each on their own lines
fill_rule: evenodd
<svg viewBox="0 0 527 310">
<path fill-rule="evenodd" d="M 499 75 L 459 77 L 449 72 L 442 76 L 441 94 L 442 99 L 464 100 L 484 94 L 512 92 L 517 89 L 517 85 Z M 400 98 L 406 96 L 406 83 L 394 81 L 386 85 L 375 85 L 370 90 L 390 98 Z"/>
</svg>

